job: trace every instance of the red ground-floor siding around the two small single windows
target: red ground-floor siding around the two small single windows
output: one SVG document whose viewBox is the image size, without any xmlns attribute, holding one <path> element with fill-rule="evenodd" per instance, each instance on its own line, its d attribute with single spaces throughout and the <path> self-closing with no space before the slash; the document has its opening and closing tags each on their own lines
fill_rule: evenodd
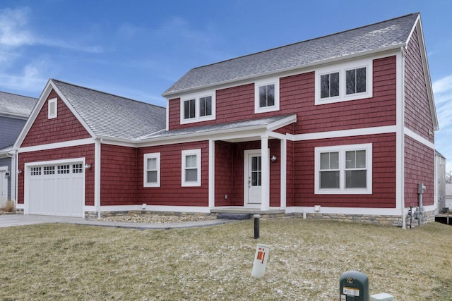
<svg viewBox="0 0 452 301">
<path fill-rule="evenodd" d="M 138 149 L 138 204 L 208 206 L 208 141 Z M 201 149 L 201 186 L 182 187 L 182 150 Z M 160 188 L 143 187 L 143 154 L 160 152 Z"/>
</svg>

